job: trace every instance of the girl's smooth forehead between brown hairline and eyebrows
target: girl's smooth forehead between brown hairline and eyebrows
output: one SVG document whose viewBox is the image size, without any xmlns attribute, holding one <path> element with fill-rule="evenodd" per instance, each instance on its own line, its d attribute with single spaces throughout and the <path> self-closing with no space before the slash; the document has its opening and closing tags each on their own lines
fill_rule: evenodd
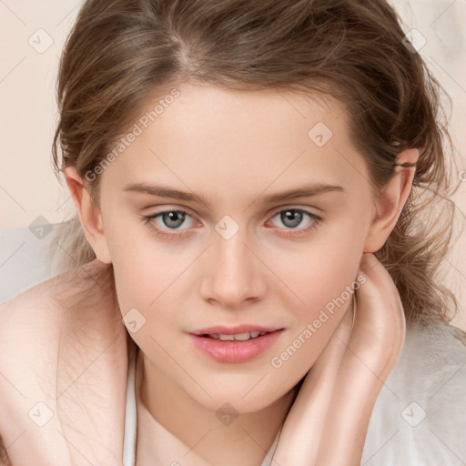
<svg viewBox="0 0 466 466">
<path fill-rule="evenodd" d="M 176 90 L 141 107 L 137 137 L 107 169 L 114 184 L 162 177 L 178 187 L 215 188 L 220 196 L 238 187 L 257 196 L 271 183 L 348 185 L 365 170 L 345 108 L 332 97 L 188 84 Z"/>
</svg>

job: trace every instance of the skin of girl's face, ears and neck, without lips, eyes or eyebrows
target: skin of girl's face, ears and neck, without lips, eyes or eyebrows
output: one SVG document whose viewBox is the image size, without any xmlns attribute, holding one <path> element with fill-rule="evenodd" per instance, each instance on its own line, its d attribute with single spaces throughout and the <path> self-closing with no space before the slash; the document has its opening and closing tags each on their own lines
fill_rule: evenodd
<svg viewBox="0 0 466 466">
<path fill-rule="evenodd" d="M 296 95 L 193 85 L 182 86 L 180 94 L 101 175 L 100 207 L 90 208 L 83 190 L 76 207 L 97 257 L 113 263 L 122 314 L 136 308 L 146 319 L 132 337 L 143 351 L 147 410 L 178 439 L 197 444 L 194 451 L 212 463 L 222 458 L 223 464 L 258 464 L 284 420 L 294 386 L 350 302 L 279 370 L 271 358 L 355 280 L 362 253 L 381 248 L 409 194 L 413 170 L 400 170 L 384 196 L 373 199 L 344 108 L 331 99 L 324 105 Z M 150 102 L 147 109 L 153 107 Z M 319 121 L 333 132 L 323 147 L 308 137 Z M 403 155 L 412 161 L 415 153 Z M 70 185 L 80 181 L 73 170 L 67 176 Z M 198 193 L 210 207 L 124 190 L 138 182 Z M 259 199 L 310 182 L 345 192 L 275 204 Z M 277 217 L 282 208 L 304 208 L 322 221 L 308 233 L 286 237 L 292 228 Z M 184 237 L 158 238 L 141 221 L 169 209 L 191 216 L 181 225 Z M 215 230 L 225 215 L 239 226 L 228 240 Z M 304 216 L 298 229 L 313 221 Z M 161 217 L 157 226 L 174 234 Z M 209 360 L 186 334 L 238 323 L 285 330 L 273 348 L 239 364 Z M 241 414 L 228 429 L 215 417 L 226 401 Z M 139 451 L 144 455 L 148 447 Z"/>
</svg>

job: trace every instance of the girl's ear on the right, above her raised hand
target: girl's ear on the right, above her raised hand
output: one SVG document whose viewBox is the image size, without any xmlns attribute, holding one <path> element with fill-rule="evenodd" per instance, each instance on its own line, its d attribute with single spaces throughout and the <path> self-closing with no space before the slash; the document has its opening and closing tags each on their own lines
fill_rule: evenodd
<svg viewBox="0 0 466 466">
<path fill-rule="evenodd" d="M 418 158 L 417 148 L 405 149 L 397 158 L 397 163 L 415 164 Z M 410 196 L 415 171 L 416 167 L 395 167 L 389 183 L 383 187 L 380 196 L 374 200 L 376 214 L 366 237 L 364 252 L 380 250 L 389 238 Z"/>
</svg>

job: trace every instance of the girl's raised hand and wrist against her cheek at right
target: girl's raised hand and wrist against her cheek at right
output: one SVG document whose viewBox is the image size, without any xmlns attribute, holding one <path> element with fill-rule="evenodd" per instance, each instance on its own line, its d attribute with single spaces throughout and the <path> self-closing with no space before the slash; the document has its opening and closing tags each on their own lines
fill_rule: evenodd
<svg viewBox="0 0 466 466">
<path fill-rule="evenodd" d="M 372 410 L 406 333 L 389 272 L 369 253 L 360 272 L 367 281 L 356 291 L 354 327 L 350 333 L 351 303 L 289 411 L 273 457 L 277 464 L 360 465 Z"/>
</svg>

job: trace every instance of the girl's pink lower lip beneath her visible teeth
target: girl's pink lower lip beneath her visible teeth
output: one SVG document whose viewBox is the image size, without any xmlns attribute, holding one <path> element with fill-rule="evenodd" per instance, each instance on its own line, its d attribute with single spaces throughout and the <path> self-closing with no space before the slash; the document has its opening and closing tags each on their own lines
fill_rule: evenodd
<svg viewBox="0 0 466 466">
<path fill-rule="evenodd" d="M 271 331 L 256 339 L 246 341 L 222 341 L 192 333 L 189 336 L 198 349 L 218 362 L 245 362 L 253 360 L 261 352 L 270 348 L 279 339 L 282 331 L 283 329 Z"/>
</svg>

